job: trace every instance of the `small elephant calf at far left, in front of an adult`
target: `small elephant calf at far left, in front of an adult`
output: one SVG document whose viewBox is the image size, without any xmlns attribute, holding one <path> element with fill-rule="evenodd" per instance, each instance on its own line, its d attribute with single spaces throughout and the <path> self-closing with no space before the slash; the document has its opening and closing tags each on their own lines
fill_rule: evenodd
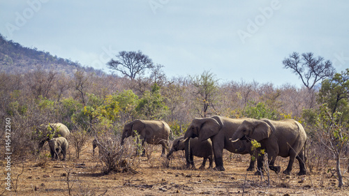
<svg viewBox="0 0 349 196">
<path fill-rule="evenodd" d="M 68 141 L 64 137 L 55 137 L 48 141 L 52 160 L 57 160 L 62 154 L 62 160 L 66 160 L 66 152 L 68 150 Z"/>
</svg>

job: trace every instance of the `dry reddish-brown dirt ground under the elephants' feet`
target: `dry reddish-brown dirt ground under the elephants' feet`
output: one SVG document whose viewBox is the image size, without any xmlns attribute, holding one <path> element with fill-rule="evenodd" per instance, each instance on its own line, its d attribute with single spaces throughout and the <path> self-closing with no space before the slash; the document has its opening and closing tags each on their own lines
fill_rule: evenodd
<svg viewBox="0 0 349 196">
<path fill-rule="evenodd" d="M 268 186 L 267 176 L 262 179 L 254 172 L 246 172 L 247 155 L 225 151 L 225 172 L 218 172 L 213 169 L 185 169 L 182 151 L 174 153 L 169 167 L 166 167 L 166 158 L 161 158 L 161 147 L 156 146 L 153 150 L 149 159 L 134 158 L 138 163 L 135 171 L 105 175 L 101 172 L 98 156 L 92 156 L 91 141 L 79 160 L 74 159 L 70 148 L 70 156 L 63 162 L 52 161 L 47 156 L 50 153 L 48 146 L 45 146 L 43 156 L 38 160 L 12 163 L 14 187 L 5 190 L 5 177 L 2 177 L 0 195 L 69 195 L 68 186 L 70 195 L 349 195 L 348 174 L 344 178 L 344 187 L 337 188 L 338 182 L 327 172 L 295 175 L 298 172 L 297 161 L 291 176 L 270 172 Z M 201 163 L 202 158 L 195 158 L 197 168 Z M 285 169 L 287 163 L 288 158 L 276 161 L 281 169 Z M 2 165 L 6 166 L 6 162 L 3 161 Z M 22 168 L 24 170 L 20 174 Z M 3 169 L 3 176 L 5 174 Z"/>
</svg>

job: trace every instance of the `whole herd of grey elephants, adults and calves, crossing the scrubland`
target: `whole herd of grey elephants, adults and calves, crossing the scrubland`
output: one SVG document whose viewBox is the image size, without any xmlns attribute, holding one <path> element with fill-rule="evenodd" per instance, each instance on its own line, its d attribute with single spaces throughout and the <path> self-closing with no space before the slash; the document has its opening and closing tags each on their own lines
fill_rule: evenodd
<svg viewBox="0 0 349 196">
<path fill-rule="evenodd" d="M 54 139 L 49 141 L 52 158 L 58 158 L 59 153 L 66 157 L 68 142 L 66 136 L 69 130 L 61 123 L 50 124 L 55 130 Z M 169 146 L 170 126 L 165 121 L 143 121 L 135 120 L 126 123 L 121 137 L 121 145 L 124 145 L 126 137 L 137 136 L 138 142 L 144 146 L 148 144 L 161 144 L 161 156 L 165 156 L 165 151 Z M 58 137 L 59 136 L 59 137 Z M 140 140 L 140 141 L 139 141 Z M 251 142 L 255 140 L 260 146 L 253 146 Z M 40 146 L 43 142 L 40 142 Z M 110 140 L 112 142 L 112 140 Z M 269 169 L 276 173 L 281 170 L 280 166 L 274 166 L 277 156 L 283 158 L 290 157 L 288 167 L 283 171 L 284 174 L 290 174 L 295 158 L 299 162 L 298 175 L 306 174 L 305 167 L 305 145 L 306 133 L 303 126 L 295 120 L 285 119 L 281 121 L 272 121 L 269 119 L 230 119 L 223 116 L 212 116 L 208 118 L 195 118 L 191 121 L 184 136 L 172 142 L 172 148 L 168 151 L 167 158 L 170 159 L 175 151 L 185 151 L 186 167 L 195 167 L 193 156 L 202 157 L 201 169 L 205 168 L 207 159 L 209 167 L 213 167 L 213 160 L 216 165 L 214 169 L 224 171 L 223 167 L 223 149 L 232 153 L 250 154 L 251 161 L 248 171 L 255 169 L 255 160 L 257 160 L 258 171 L 255 174 L 261 174 L 264 163 L 262 153 L 267 153 Z M 98 142 L 94 140 L 94 149 Z M 98 147 L 101 153 L 101 148 Z M 142 151 L 142 155 L 144 155 Z"/>
</svg>

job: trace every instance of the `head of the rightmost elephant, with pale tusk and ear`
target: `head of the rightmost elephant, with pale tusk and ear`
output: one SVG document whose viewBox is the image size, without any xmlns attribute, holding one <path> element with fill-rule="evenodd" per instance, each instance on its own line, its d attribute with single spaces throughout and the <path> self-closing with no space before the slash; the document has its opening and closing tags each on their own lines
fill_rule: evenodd
<svg viewBox="0 0 349 196">
<path fill-rule="evenodd" d="M 272 128 L 265 121 L 245 120 L 232 135 L 232 142 L 239 140 L 256 140 L 260 142 L 267 139 L 272 133 Z"/>
</svg>

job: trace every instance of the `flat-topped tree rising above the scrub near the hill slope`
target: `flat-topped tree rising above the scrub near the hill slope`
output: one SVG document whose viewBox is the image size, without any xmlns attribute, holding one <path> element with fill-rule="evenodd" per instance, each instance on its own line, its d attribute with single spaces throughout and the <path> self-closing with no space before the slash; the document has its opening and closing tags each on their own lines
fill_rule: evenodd
<svg viewBox="0 0 349 196">
<path fill-rule="evenodd" d="M 116 59 L 111 59 L 107 63 L 108 68 L 117 70 L 132 80 L 144 70 L 154 67 L 149 56 L 143 54 L 140 50 L 138 52 L 121 51 L 115 57 Z"/>
</svg>

